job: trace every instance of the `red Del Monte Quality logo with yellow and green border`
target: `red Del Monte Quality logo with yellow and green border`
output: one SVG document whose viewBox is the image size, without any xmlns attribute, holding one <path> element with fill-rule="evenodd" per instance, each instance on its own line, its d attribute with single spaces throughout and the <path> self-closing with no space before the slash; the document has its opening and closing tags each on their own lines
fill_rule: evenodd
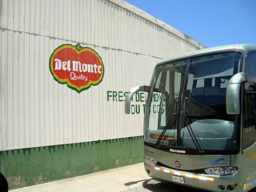
<svg viewBox="0 0 256 192">
<path fill-rule="evenodd" d="M 104 76 L 104 66 L 96 51 L 88 47 L 65 44 L 50 57 L 50 71 L 54 79 L 76 92 L 98 85 Z"/>
</svg>

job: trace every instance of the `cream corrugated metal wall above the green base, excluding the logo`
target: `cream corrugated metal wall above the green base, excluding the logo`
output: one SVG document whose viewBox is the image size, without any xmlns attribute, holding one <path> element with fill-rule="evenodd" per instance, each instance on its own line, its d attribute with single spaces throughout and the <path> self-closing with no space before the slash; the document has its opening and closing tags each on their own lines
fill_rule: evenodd
<svg viewBox="0 0 256 192">
<path fill-rule="evenodd" d="M 122 0 L 0 0 L 0 38 L 0 151 L 143 135 L 143 102 L 125 115 L 124 92 L 149 84 L 160 58 L 203 48 Z M 57 47 L 77 43 L 105 67 L 81 93 L 49 70 Z"/>
</svg>

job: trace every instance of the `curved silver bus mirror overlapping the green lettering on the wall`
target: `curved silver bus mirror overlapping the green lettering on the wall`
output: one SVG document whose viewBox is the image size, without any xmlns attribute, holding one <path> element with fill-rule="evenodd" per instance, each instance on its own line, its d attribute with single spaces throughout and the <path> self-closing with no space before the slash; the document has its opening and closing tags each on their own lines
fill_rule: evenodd
<svg viewBox="0 0 256 192">
<path fill-rule="evenodd" d="M 126 95 L 125 97 L 125 103 L 124 103 L 124 112 L 126 114 L 130 114 L 131 112 L 131 101 L 133 99 L 133 95 L 135 93 L 138 93 L 140 91 L 146 91 L 149 92 L 150 91 L 150 86 L 136 86 L 134 88 L 132 88 Z"/>
</svg>

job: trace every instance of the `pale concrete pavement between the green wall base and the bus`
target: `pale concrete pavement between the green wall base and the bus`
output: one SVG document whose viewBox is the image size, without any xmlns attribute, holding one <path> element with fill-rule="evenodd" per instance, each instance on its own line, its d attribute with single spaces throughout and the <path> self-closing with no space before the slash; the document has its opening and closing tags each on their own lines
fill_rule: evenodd
<svg viewBox="0 0 256 192">
<path fill-rule="evenodd" d="M 147 176 L 143 163 L 139 163 L 121 168 L 106 170 L 104 172 L 58 180 L 9 191 L 118 192 L 129 188 L 140 187 L 144 181 L 149 179 L 151 179 L 151 177 Z"/>
</svg>

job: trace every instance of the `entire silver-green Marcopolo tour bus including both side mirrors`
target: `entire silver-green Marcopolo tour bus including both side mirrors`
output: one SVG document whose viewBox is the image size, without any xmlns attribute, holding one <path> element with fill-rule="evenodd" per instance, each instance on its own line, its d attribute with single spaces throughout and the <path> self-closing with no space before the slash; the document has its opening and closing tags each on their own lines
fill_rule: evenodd
<svg viewBox="0 0 256 192">
<path fill-rule="evenodd" d="M 148 176 L 209 191 L 256 185 L 256 46 L 197 50 L 160 61 L 147 92 L 144 166 Z M 157 109 L 157 110 L 156 110 Z"/>
</svg>

